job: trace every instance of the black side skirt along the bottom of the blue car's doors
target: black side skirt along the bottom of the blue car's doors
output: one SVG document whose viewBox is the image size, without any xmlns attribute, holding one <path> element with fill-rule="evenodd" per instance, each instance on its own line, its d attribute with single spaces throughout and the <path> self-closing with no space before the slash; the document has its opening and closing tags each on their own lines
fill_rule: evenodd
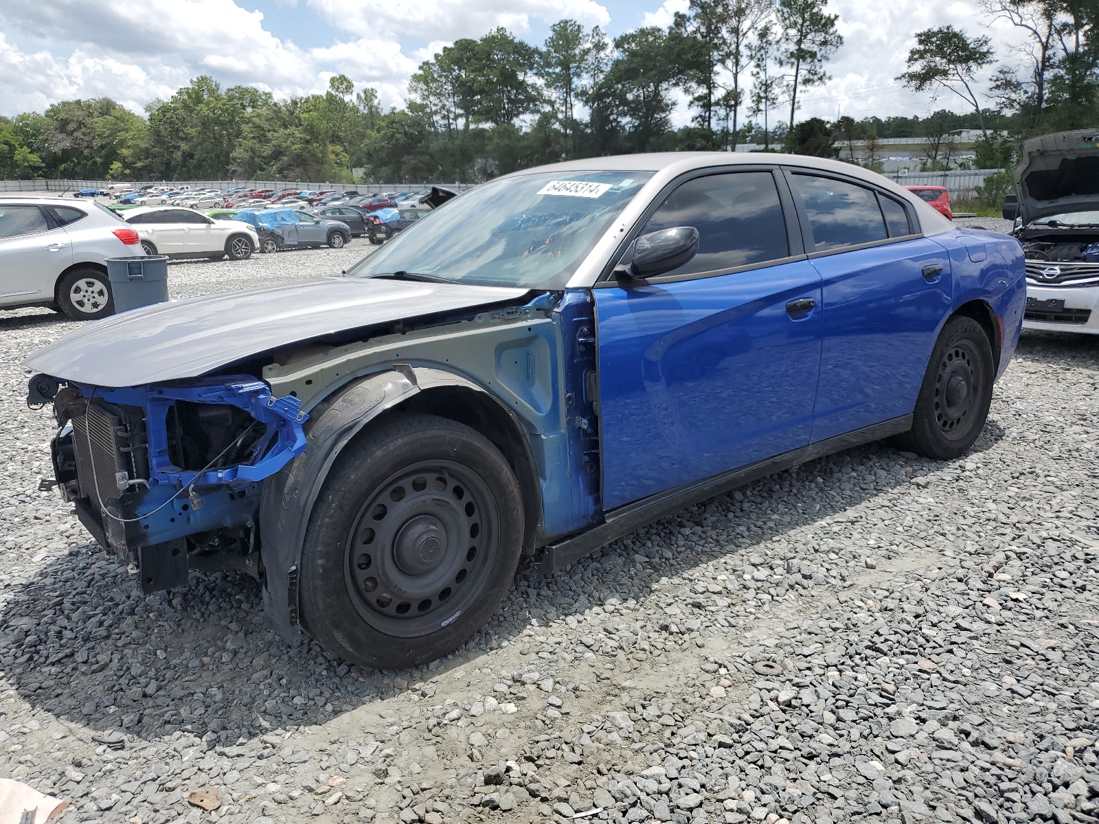
<svg viewBox="0 0 1099 824">
<path fill-rule="evenodd" d="M 640 530 L 642 526 L 674 514 L 684 506 L 704 501 L 736 487 L 743 487 L 784 469 L 790 469 L 853 446 L 868 444 L 872 441 L 900 435 L 911 428 L 912 415 L 893 417 L 619 506 L 609 512 L 607 520 L 598 526 L 566 538 L 558 544 L 544 547 L 541 550 L 537 569 L 546 577 L 557 575 L 569 564 L 590 555 L 612 541 L 618 541 L 631 532 Z"/>
</svg>

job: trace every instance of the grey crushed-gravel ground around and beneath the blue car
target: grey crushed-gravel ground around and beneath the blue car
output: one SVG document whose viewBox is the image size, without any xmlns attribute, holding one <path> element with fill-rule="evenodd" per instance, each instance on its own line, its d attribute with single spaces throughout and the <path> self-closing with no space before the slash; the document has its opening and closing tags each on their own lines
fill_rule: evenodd
<svg viewBox="0 0 1099 824">
<path fill-rule="evenodd" d="M 365 244 L 179 264 L 176 294 Z M 141 597 L 52 493 L 0 318 L 0 776 L 63 822 L 828 824 L 1096 817 L 1096 344 L 1024 335 L 973 453 L 874 444 L 641 530 L 414 671 L 347 667 L 196 575 Z M 188 794 L 214 789 L 212 813 Z"/>
</svg>

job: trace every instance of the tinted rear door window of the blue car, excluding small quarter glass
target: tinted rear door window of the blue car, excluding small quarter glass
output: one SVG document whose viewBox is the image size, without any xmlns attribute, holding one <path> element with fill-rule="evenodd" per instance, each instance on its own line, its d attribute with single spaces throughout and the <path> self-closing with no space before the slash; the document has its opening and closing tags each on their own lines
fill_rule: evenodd
<svg viewBox="0 0 1099 824">
<path fill-rule="evenodd" d="M 814 175 L 795 174 L 792 178 L 817 252 L 886 240 L 878 199 L 869 189 Z"/>
</svg>

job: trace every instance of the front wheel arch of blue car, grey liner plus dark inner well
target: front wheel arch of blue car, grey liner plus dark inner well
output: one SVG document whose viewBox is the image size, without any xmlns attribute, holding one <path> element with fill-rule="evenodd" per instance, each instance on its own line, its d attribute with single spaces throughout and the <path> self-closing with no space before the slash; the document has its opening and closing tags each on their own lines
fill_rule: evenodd
<svg viewBox="0 0 1099 824">
<path fill-rule="evenodd" d="M 298 570 L 306 528 L 336 457 L 382 415 L 431 412 L 464 423 L 503 454 L 523 497 L 523 548 L 532 552 L 542 523 L 541 486 L 521 424 L 487 390 L 459 375 L 395 365 L 340 387 L 310 411 L 308 446 L 264 483 L 259 510 L 264 613 L 285 637 L 300 633 Z"/>
</svg>

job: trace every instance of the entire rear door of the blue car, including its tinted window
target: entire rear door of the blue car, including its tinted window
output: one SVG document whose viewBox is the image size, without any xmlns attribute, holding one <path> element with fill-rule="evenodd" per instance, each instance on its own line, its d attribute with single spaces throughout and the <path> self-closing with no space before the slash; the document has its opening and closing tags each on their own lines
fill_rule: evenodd
<svg viewBox="0 0 1099 824">
<path fill-rule="evenodd" d="M 950 312 L 950 257 L 899 198 L 842 176 L 787 177 L 823 282 L 813 442 L 910 414 Z"/>
</svg>

